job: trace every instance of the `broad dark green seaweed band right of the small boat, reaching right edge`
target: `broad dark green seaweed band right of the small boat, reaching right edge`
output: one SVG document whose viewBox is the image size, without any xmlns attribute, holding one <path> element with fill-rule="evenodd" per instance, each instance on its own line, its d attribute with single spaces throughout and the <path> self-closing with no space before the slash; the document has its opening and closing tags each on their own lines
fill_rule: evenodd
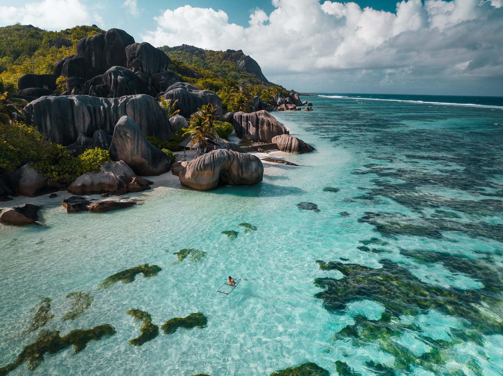
<svg viewBox="0 0 503 376">
<path fill-rule="evenodd" d="M 484 282 L 489 285 L 483 289 L 458 290 L 423 283 L 407 269 L 388 260 L 381 260 L 381 269 L 337 261 L 317 263 L 322 270 L 338 270 L 345 276 L 341 280 L 317 278 L 314 281 L 316 286 L 324 289 L 315 297 L 321 299 L 323 306 L 331 312 L 342 311 L 353 301 L 371 297 L 396 317 L 417 315 L 434 308 L 468 320 L 482 333 L 503 333 L 503 321 L 496 313 L 490 313 L 490 307 L 503 303 L 498 293 L 503 281 L 500 271 L 497 274 L 486 271 L 488 276 Z"/>
</svg>

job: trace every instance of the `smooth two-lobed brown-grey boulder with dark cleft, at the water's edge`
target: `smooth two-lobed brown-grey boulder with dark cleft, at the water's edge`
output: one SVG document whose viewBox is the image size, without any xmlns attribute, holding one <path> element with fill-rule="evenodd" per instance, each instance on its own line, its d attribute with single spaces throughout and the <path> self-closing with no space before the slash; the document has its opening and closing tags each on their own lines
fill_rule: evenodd
<svg viewBox="0 0 503 376">
<path fill-rule="evenodd" d="M 264 165 L 251 154 L 226 149 L 213 150 L 190 161 L 180 172 L 182 185 L 206 191 L 218 186 L 251 185 L 262 181 Z"/>
</svg>

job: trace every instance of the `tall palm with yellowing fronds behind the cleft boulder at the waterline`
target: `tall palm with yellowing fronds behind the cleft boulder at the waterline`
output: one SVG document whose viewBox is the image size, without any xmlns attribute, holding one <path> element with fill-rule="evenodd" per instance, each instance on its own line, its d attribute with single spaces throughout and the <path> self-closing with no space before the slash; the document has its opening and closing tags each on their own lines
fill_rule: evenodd
<svg viewBox="0 0 503 376">
<path fill-rule="evenodd" d="M 208 103 L 201 106 L 199 111 L 191 116 L 189 131 L 184 133 L 183 137 L 192 136 L 190 142 L 191 149 L 194 147 L 194 144 L 198 144 L 194 158 L 198 157 L 199 148 L 202 146 L 208 147 L 208 139 L 218 140 L 218 135 L 213 127 L 216 111 L 217 107 L 213 107 L 213 104 Z"/>
</svg>

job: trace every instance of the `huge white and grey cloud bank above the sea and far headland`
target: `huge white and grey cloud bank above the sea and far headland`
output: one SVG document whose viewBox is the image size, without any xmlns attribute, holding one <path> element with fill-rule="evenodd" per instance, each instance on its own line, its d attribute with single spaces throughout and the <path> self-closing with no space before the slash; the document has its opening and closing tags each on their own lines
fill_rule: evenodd
<svg viewBox="0 0 503 376">
<path fill-rule="evenodd" d="M 501 2 L 403 0 L 391 13 L 356 3 L 274 0 L 276 9 L 256 9 L 248 27 L 230 24 L 221 10 L 184 6 L 156 17 L 156 30 L 142 38 L 156 46 L 242 49 L 272 81 L 296 72 L 326 82 L 329 75 L 345 82 L 366 77 L 376 85 L 491 79 L 503 72 Z"/>
</svg>

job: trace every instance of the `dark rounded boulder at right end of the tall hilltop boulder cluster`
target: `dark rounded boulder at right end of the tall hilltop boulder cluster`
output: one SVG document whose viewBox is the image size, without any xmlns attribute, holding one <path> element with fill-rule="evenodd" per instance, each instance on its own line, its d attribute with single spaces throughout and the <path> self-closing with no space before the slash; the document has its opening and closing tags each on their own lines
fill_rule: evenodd
<svg viewBox="0 0 503 376">
<path fill-rule="evenodd" d="M 133 43 L 126 47 L 127 67 L 133 72 L 143 72 L 151 76 L 167 70 L 171 59 L 150 43 Z"/>
</svg>

